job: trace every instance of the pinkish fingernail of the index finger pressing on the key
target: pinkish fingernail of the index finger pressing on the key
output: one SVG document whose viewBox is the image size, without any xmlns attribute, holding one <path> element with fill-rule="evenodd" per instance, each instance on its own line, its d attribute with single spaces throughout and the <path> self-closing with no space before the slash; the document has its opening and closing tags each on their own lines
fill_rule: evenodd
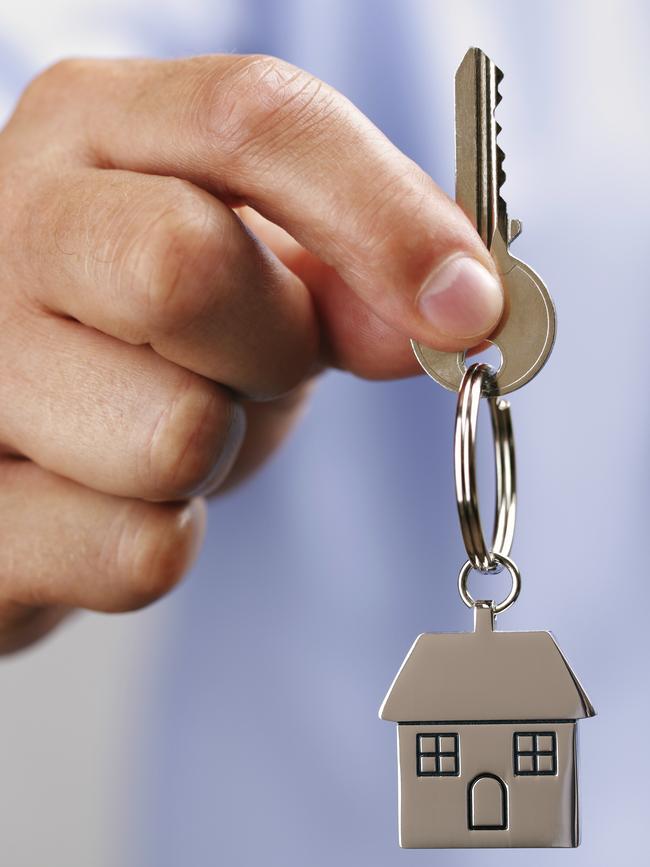
<svg viewBox="0 0 650 867">
<path fill-rule="evenodd" d="M 420 312 L 436 331 L 459 339 L 487 334 L 503 310 L 499 281 L 476 259 L 446 259 L 422 287 Z"/>
</svg>

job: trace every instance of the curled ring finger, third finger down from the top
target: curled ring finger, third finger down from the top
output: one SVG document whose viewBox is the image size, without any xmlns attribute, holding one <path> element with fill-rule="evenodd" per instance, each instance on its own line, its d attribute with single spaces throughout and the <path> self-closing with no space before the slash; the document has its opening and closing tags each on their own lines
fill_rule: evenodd
<svg viewBox="0 0 650 867">
<path fill-rule="evenodd" d="M 183 498 L 228 474 L 245 416 L 221 386 L 74 321 L 23 311 L 20 325 L 0 345 L 0 441 L 125 497 Z"/>
</svg>

